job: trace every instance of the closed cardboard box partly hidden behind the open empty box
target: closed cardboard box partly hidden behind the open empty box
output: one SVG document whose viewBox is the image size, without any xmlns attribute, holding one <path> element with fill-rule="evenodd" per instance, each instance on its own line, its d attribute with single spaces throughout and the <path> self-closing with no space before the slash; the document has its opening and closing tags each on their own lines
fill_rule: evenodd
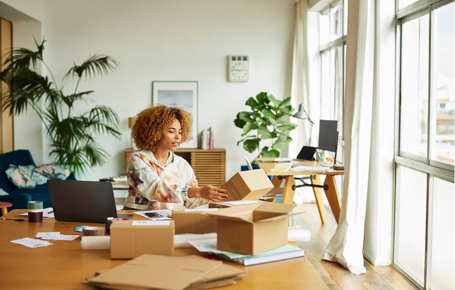
<svg viewBox="0 0 455 290">
<path fill-rule="evenodd" d="M 175 234 L 181 233 L 210 233 L 217 232 L 217 221 L 202 215 L 207 210 L 216 209 L 179 209 L 172 211 L 172 220 L 175 225 Z"/>
</svg>

